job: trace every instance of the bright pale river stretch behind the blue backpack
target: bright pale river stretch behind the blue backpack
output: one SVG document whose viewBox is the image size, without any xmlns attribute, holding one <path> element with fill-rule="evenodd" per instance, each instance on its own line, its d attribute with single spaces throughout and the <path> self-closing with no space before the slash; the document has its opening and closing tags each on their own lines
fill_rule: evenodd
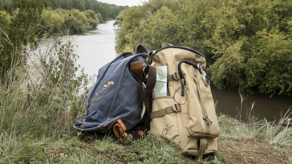
<svg viewBox="0 0 292 164">
<path fill-rule="evenodd" d="M 115 34 L 117 27 L 114 20 L 98 25 L 96 30 L 86 35 L 71 36 L 75 44 L 75 53 L 79 55 L 77 63 L 84 68 L 84 72 L 93 75 L 98 69 L 114 59 Z"/>
</svg>

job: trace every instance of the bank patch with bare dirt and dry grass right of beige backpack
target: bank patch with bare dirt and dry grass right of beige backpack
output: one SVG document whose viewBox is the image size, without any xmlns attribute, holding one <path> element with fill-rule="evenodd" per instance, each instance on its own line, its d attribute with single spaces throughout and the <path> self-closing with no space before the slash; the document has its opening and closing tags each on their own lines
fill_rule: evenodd
<svg viewBox="0 0 292 164">
<path fill-rule="evenodd" d="M 286 113 L 285 117 L 289 116 L 291 113 Z M 226 164 L 291 164 L 292 127 L 282 126 L 284 121 L 268 122 L 251 115 L 243 123 L 221 115 L 219 154 Z"/>
</svg>

